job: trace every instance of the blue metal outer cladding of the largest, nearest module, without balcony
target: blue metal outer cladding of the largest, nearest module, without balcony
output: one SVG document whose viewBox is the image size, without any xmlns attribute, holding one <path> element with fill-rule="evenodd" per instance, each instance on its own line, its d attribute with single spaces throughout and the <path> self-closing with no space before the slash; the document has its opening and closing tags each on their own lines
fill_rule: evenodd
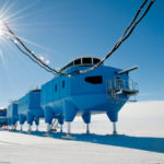
<svg viewBox="0 0 164 164">
<path fill-rule="evenodd" d="M 89 67 L 70 68 L 67 72 L 86 68 Z M 116 72 L 119 71 L 121 70 L 101 66 L 87 73 L 74 74 L 70 78 L 67 75 L 58 75 L 47 82 L 42 86 L 40 103 L 45 113 L 50 113 L 49 115 L 47 114 L 47 117 L 65 117 L 67 121 L 72 121 L 77 114 L 107 113 L 112 121 L 117 121 L 117 113 L 128 97 L 120 95 L 125 101 L 107 97 L 106 81 L 114 80 Z M 102 77 L 102 83 L 91 83 L 86 81 L 86 78 L 97 75 Z M 128 74 L 124 74 L 124 78 L 128 79 Z M 85 119 L 86 117 L 83 118 Z M 85 121 L 89 120 L 85 119 Z"/>
</svg>

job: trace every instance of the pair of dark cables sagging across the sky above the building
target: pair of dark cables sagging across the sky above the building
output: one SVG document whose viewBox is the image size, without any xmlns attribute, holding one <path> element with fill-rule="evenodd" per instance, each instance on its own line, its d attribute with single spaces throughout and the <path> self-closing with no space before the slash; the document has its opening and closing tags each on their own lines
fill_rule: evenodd
<svg viewBox="0 0 164 164">
<path fill-rule="evenodd" d="M 68 75 L 70 77 L 71 74 L 80 74 L 80 73 L 86 73 L 93 69 L 95 69 L 96 67 L 101 66 L 106 59 L 108 59 L 113 52 L 115 50 L 118 49 L 118 47 L 131 35 L 131 33 L 133 32 L 133 30 L 136 28 L 136 26 L 140 23 L 140 21 L 145 16 L 145 14 L 148 13 L 148 11 L 150 10 L 150 8 L 152 7 L 153 2 L 155 0 L 151 0 L 151 2 L 149 3 L 148 8 L 145 9 L 145 11 L 143 12 L 143 14 L 138 19 L 141 10 L 144 8 L 144 5 L 147 4 L 148 0 L 144 0 L 144 2 L 141 4 L 140 9 L 137 11 L 134 17 L 132 19 L 131 23 L 128 25 L 128 27 L 126 28 L 124 35 L 120 37 L 120 39 L 114 45 L 114 47 L 112 48 L 112 50 L 105 56 L 105 58 L 101 59 L 101 61 L 96 65 L 94 65 L 93 67 L 85 69 L 85 70 L 78 70 L 78 71 L 73 71 L 70 73 L 65 73 L 65 72 L 60 72 L 57 71 L 56 69 L 49 67 L 48 65 L 46 65 L 44 61 L 42 61 L 32 50 L 30 50 L 25 44 L 21 40 L 21 38 L 19 38 L 13 31 L 8 26 L 8 24 L 5 22 L 2 22 L 3 25 L 5 26 L 5 28 L 8 30 L 8 32 L 11 34 L 11 36 L 19 42 L 19 44 L 25 49 L 23 50 L 20 45 L 13 39 L 11 38 L 8 34 L 5 34 L 7 37 L 9 37 L 9 39 L 16 46 L 16 48 L 23 52 L 24 55 L 26 55 L 32 61 L 36 62 L 37 65 L 39 65 L 42 68 L 44 68 L 46 71 L 54 73 L 55 75 L 57 74 L 62 74 L 62 75 Z M 138 19 L 138 21 L 137 21 Z"/>
</svg>

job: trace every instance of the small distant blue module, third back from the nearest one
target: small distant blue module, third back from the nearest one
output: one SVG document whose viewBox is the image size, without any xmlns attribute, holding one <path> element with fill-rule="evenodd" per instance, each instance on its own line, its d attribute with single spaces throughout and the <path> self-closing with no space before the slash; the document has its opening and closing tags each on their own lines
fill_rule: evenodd
<svg viewBox="0 0 164 164">
<path fill-rule="evenodd" d="M 17 101 L 12 102 L 7 109 L 7 118 L 8 118 L 8 125 L 12 126 L 12 128 L 15 128 L 15 124 L 19 120 L 17 115 Z"/>
</svg>

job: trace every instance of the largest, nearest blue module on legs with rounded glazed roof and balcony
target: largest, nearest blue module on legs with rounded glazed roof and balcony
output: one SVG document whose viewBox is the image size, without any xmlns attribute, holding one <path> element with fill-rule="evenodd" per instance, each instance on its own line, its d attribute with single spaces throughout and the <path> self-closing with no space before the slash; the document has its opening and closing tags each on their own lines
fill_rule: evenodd
<svg viewBox="0 0 164 164">
<path fill-rule="evenodd" d="M 89 124 L 92 114 L 105 113 L 114 122 L 116 133 L 116 121 L 118 112 L 131 95 L 138 93 L 137 83 L 130 84 L 129 71 L 136 69 L 120 70 L 104 65 L 86 73 L 85 70 L 99 62 L 93 57 L 81 57 L 61 68 L 61 74 L 55 77 L 42 86 L 40 105 L 45 113 L 47 131 L 50 130 L 52 118 L 57 118 L 62 127 L 63 121 L 68 122 L 67 133 L 70 134 L 71 121 L 77 115 L 81 115 Z M 71 73 L 65 75 L 63 73 Z"/>
</svg>

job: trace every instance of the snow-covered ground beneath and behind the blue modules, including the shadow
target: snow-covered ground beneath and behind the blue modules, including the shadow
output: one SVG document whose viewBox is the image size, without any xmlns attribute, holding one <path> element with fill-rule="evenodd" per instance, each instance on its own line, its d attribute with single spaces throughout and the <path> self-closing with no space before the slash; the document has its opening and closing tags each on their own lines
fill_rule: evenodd
<svg viewBox="0 0 164 164">
<path fill-rule="evenodd" d="M 125 105 L 117 137 L 106 115 L 92 117 L 91 134 L 75 118 L 75 140 L 62 140 L 65 133 L 46 137 L 43 121 L 39 129 L 32 134 L 1 130 L 0 164 L 164 164 L 164 102 Z"/>
</svg>

